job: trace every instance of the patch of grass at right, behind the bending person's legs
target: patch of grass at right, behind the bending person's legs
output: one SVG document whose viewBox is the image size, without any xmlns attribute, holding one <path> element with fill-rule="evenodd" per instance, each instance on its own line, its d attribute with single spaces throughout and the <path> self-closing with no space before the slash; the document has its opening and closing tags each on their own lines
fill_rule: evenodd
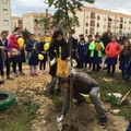
<svg viewBox="0 0 131 131">
<path fill-rule="evenodd" d="M 120 108 L 120 116 L 123 116 L 127 120 L 131 120 L 131 105 L 128 104 L 127 106 L 117 106 L 116 105 L 116 99 L 111 98 L 108 99 L 108 93 L 121 93 L 122 96 L 126 95 L 126 93 L 131 90 L 131 80 L 129 83 L 122 83 L 121 74 L 119 72 L 116 73 L 114 78 L 107 76 L 105 71 L 100 71 L 99 74 L 91 74 L 98 83 L 102 88 L 102 99 L 107 100 L 108 103 L 111 104 L 112 108 Z M 106 80 L 111 80 L 111 81 L 105 81 Z M 131 94 L 129 95 L 131 97 Z"/>
</svg>

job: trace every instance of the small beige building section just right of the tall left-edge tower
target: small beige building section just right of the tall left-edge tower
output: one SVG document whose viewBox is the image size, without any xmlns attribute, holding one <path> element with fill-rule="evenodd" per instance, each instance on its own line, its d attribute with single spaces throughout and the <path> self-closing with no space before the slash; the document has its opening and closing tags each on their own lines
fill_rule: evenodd
<svg viewBox="0 0 131 131">
<path fill-rule="evenodd" d="M 23 19 L 20 16 L 12 16 L 12 29 L 14 31 L 15 27 L 23 28 Z"/>
</svg>

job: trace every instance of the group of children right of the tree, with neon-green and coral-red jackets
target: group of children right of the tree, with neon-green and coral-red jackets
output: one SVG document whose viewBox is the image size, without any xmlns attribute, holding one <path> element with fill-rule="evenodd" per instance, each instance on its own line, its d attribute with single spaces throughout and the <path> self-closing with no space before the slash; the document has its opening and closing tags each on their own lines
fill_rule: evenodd
<svg viewBox="0 0 131 131">
<path fill-rule="evenodd" d="M 119 64 L 122 81 L 128 82 L 131 75 L 131 45 L 129 38 L 120 43 L 117 36 L 110 32 L 104 33 L 100 37 L 88 35 L 87 41 L 81 34 L 78 38 L 78 46 L 73 47 L 73 58 L 78 61 L 79 69 L 86 69 L 87 72 L 99 72 L 107 69 L 107 74 L 114 76 L 116 66 Z"/>
</svg>

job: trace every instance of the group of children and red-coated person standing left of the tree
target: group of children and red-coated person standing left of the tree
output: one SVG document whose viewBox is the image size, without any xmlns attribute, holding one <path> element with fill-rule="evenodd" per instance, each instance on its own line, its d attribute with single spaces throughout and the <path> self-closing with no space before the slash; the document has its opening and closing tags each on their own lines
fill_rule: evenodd
<svg viewBox="0 0 131 131">
<path fill-rule="evenodd" d="M 23 71 L 23 63 L 26 62 L 27 60 L 28 60 L 31 76 L 38 75 L 37 73 L 38 64 L 41 73 L 45 73 L 46 71 L 47 51 L 44 50 L 45 41 L 40 40 L 40 43 L 38 43 L 37 40 L 35 40 L 34 34 L 31 34 L 27 40 L 23 38 L 24 45 L 21 47 L 17 41 L 19 38 L 23 38 L 22 29 L 20 27 L 16 27 L 12 33 L 12 35 L 9 37 L 7 32 L 3 31 L 1 33 L 0 84 L 4 84 L 5 81 L 4 67 L 7 69 L 7 80 L 13 80 L 19 75 L 25 75 Z M 45 59 L 39 61 L 38 53 L 41 53 Z"/>
</svg>

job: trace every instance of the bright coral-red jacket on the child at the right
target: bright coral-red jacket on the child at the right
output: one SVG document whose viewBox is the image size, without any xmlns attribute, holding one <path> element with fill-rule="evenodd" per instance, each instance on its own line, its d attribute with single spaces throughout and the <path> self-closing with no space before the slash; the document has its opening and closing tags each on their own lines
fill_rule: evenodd
<svg viewBox="0 0 131 131">
<path fill-rule="evenodd" d="M 120 53 L 120 51 L 121 51 L 121 47 L 117 41 L 109 43 L 105 49 L 105 52 L 106 52 L 108 58 L 117 58 L 118 55 Z"/>
</svg>

